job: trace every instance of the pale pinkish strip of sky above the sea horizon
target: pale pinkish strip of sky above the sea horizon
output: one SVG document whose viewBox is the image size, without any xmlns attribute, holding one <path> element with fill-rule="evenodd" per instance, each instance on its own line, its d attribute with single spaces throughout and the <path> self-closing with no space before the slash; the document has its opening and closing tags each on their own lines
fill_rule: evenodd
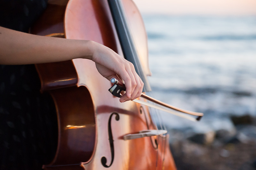
<svg viewBox="0 0 256 170">
<path fill-rule="evenodd" d="M 133 0 L 143 13 L 256 15 L 256 0 Z"/>
</svg>

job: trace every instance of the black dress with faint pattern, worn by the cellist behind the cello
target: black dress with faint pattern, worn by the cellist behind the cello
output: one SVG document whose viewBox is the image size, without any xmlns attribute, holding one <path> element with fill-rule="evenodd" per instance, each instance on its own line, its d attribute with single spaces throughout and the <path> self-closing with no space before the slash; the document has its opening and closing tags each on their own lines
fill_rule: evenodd
<svg viewBox="0 0 256 170">
<path fill-rule="evenodd" d="M 0 26 L 27 32 L 46 8 L 46 1 L 0 0 Z M 0 65 L 1 170 L 41 169 L 54 157 L 55 108 L 51 97 L 39 89 L 34 65 Z"/>
</svg>

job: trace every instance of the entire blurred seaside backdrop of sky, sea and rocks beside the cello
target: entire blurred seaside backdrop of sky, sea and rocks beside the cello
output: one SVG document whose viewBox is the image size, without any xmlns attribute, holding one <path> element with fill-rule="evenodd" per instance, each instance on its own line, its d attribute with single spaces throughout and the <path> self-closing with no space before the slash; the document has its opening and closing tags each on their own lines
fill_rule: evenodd
<svg viewBox="0 0 256 170">
<path fill-rule="evenodd" d="M 178 170 L 256 169 L 256 1 L 134 0 L 148 34 L 152 95 Z"/>
</svg>

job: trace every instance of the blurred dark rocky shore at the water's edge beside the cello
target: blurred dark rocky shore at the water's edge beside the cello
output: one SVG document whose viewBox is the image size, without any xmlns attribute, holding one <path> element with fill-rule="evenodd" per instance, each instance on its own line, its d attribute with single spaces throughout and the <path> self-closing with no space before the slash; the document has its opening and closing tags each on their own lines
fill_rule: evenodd
<svg viewBox="0 0 256 170">
<path fill-rule="evenodd" d="M 256 170 L 256 118 L 230 117 L 234 129 L 205 133 L 169 130 L 178 170 Z"/>
</svg>

